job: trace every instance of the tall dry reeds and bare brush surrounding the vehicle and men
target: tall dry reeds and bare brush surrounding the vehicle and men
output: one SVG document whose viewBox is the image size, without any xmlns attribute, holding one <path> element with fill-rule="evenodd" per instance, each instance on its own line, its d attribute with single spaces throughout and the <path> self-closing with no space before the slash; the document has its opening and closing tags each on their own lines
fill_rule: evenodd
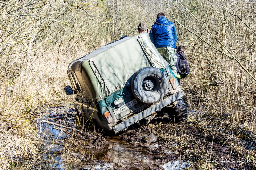
<svg viewBox="0 0 256 170">
<path fill-rule="evenodd" d="M 71 101 L 63 92 L 70 61 L 152 25 L 158 12 L 175 22 L 191 74 L 182 80 L 189 109 L 233 131 L 256 128 L 254 1 L 146 0 L 0 2 L 0 168 L 33 158 L 33 117 L 41 105 Z M 187 9 L 186 9 L 187 8 Z M 247 73 L 248 72 L 248 73 Z"/>
</svg>

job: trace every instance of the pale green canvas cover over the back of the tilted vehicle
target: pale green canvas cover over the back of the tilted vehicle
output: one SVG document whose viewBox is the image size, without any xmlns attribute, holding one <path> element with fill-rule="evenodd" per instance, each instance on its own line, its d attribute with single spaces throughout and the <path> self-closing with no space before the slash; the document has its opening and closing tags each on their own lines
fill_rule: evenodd
<svg viewBox="0 0 256 170">
<path fill-rule="evenodd" d="M 92 69 L 94 79 L 95 77 L 97 79 L 92 82 L 95 94 L 97 94 L 94 96 L 95 100 L 101 100 L 108 94 L 126 86 L 128 79 L 140 68 L 153 66 L 160 69 L 168 65 L 152 44 L 147 33 L 126 37 L 108 44 L 76 62 L 81 60 L 87 60 L 86 64 L 83 63 L 81 66 L 86 67 L 84 70 Z"/>
</svg>

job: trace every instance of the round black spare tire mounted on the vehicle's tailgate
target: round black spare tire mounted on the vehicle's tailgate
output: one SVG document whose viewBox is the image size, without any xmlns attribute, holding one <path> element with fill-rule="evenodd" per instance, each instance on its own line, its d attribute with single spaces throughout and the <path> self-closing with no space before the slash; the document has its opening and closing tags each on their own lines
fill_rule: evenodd
<svg viewBox="0 0 256 170">
<path fill-rule="evenodd" d="M 156 103 L 163 99 L 168 88 L 166 75 L 158 68 L 143 67 L 131 80 L 133 95 L 143 103 Z"/>
</svg>

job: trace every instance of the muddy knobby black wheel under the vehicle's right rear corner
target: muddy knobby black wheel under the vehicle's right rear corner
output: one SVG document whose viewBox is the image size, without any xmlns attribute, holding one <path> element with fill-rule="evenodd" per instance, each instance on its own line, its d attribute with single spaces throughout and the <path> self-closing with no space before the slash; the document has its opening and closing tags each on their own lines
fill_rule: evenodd
<svg viewBox="0 0 256 170">
<path fill-rule="evenodd" d="M 175 102 L 175 105 L 169 107 L 170 110 L 167 113 L 173 122 L 180 123 L 188 118 L 188 109 L 182 99 Z"/>
</svg>

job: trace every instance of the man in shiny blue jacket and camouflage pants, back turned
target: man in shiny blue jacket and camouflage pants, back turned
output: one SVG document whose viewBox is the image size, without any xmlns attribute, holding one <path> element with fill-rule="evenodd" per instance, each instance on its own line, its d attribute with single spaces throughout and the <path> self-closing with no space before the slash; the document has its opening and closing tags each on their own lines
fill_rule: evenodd
<svg viewBox="0 0 256 170">
<path fill-rule="evenodd" d="M 159 53 L 170 64 L 173 73 L 177 75 L 177 68 L 175 66 L 177 62 L 176 27 L 165 17 L 163 12 L 157 14 L 156 21 L 151 27 L 149 36 Z"/>
</svg>

